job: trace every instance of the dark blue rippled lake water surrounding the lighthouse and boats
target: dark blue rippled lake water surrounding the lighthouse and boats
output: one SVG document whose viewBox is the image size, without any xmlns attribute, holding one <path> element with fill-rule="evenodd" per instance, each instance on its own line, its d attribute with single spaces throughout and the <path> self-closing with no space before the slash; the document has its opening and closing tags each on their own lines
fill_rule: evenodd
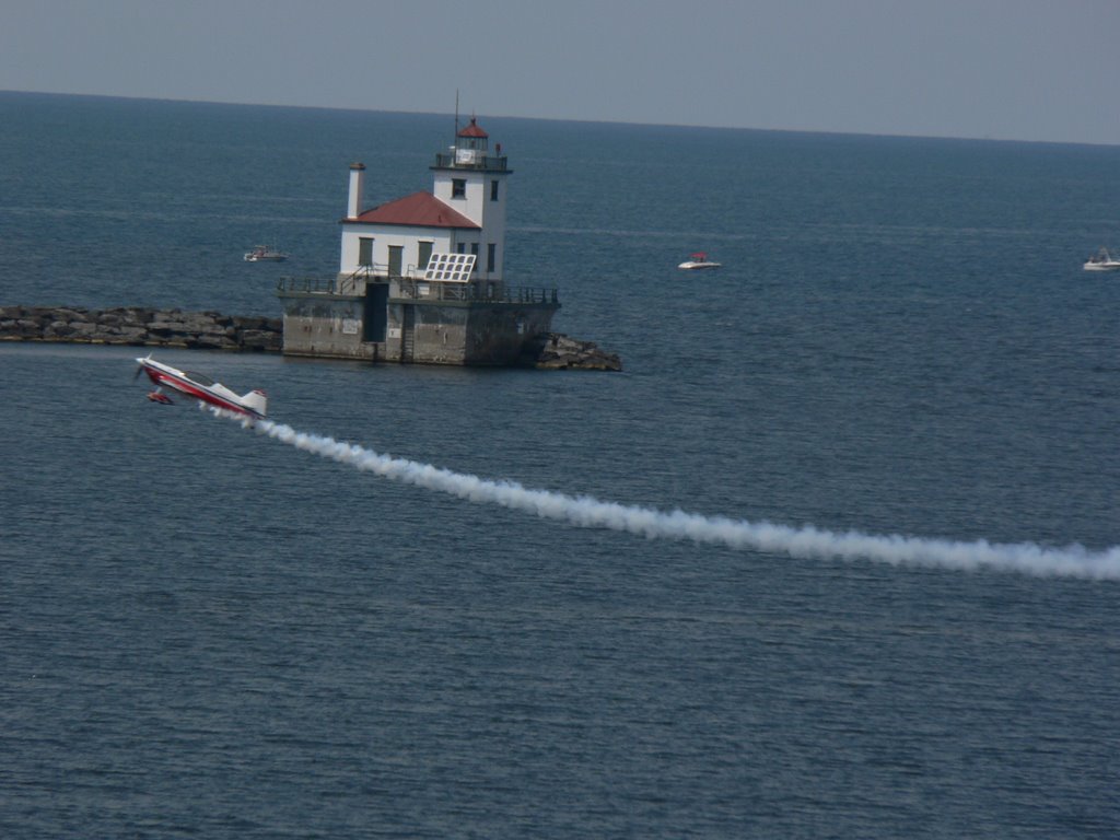
<svg viewBox="0 0 1120 840">
<path fill-rule="evenodd" d="M 625 373 L 0 345 L 0 836 L 1120 834 L 1120 148 L 479 123 Z M 279 315 L 451 128 L 0 94 L 0 304 Z"/>
</svg>

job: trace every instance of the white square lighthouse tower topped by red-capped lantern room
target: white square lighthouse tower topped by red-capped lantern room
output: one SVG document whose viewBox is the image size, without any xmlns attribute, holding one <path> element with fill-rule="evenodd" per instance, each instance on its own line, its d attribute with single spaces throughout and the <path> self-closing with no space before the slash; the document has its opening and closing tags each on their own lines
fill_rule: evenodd
<svg viewBox="0 0 1120 840">
<path fill-rule="evenodd" d="M 448 153 L 437 155 L 432 194 L 479 227 L 477 242 L 459 242 L 460 253 L 473 251 L 478 277 L 501 281 L 505 264 L 506 166 L 501 143 L 491 153 L 489 134 L 474 116 L 455 136 Z"/>
</svg>

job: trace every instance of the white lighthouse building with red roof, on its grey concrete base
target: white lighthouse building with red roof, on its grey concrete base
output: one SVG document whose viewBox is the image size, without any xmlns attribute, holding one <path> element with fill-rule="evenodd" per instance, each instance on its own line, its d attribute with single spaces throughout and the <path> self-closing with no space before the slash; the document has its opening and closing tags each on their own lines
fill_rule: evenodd
<svg viewBox="0 0 1120 840">
<path fill-rule="evenodd" d="M 288 355 L 431 364 L 514 364 L 551 329 L 554 289 L 505 278 L 512 170 L 472 118 L 436 155 L 430 193 L 363 209 L 366 168 L 352 164 L 338 273 L 288 281 Z"/>
</svg>

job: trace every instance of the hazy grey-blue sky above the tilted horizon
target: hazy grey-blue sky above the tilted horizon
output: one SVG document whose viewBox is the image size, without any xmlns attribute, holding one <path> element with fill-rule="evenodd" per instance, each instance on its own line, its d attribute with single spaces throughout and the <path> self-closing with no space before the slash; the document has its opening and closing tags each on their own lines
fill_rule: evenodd
<svg viewBox="0 0 1120 840">
<path fill-rule="evenodd" d="M 1120 144 L 1120 0 L 0 0 L 0 90 Z"/>
</svg>

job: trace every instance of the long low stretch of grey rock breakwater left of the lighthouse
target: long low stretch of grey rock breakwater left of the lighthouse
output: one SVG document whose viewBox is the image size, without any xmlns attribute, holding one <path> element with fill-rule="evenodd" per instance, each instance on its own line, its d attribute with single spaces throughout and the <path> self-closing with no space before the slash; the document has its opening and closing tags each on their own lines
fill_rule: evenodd
<svg viewBox="0 0 1120 840">
<path fill-rule="evenodd" d="M 0 340 L 280 353 L 280 318 L 116 307 L 2 306 Z"/>
</svg>

